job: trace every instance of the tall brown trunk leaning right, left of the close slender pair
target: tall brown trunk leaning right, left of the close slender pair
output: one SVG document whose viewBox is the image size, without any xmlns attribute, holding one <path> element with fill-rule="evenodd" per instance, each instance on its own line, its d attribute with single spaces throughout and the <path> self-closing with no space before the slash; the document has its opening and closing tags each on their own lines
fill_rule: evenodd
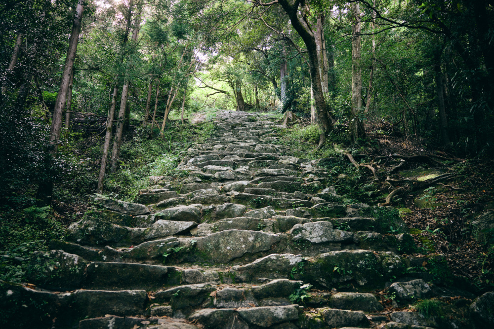
<svg viewBox="0 0 494 329">
<path fill-rule="evenodd" d="M 81 33 L 83 10 L 84 10 L 84 6 L 82 4 L 82 0 L 80 0 L 80 2 L 78 2 L 76 7 L 76 17 L 74 18 L 74 23 L 72 25 L 72 33 L 70 35 L 67 58 L 65 59 L 65 67 L 62 74 L 62 82 L 60 83 L 60 89 L 58 91 L 57 99 L 55 101 L 55 109 L 53 110 L 53 119 L 51 121 L 51 128 L 50 128 L 51 154 L 56 153 L 58 140 L 60 138 L 60 128 L 62 126 L 62 112 L 63 109 L 65 108 L 65 102 L 67 101 L 67 93 L 69 91 L 72 71 L 74 69 L 74 60 L 76 59 L 77 43 L 79 41 L 79 34 Z"/>
</svg>

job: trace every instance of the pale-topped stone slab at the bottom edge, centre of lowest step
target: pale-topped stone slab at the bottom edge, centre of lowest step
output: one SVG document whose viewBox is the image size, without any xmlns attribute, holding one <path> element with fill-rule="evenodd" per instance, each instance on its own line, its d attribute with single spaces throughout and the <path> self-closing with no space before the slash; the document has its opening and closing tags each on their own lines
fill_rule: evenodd
<svg viewBox="0 0 494 329">
<path fill-rule="evenodd" d="M 268 328 L 298 320 L 298 305 L 241 308 L 238 313 L 247 323 Z"/>
</svg>

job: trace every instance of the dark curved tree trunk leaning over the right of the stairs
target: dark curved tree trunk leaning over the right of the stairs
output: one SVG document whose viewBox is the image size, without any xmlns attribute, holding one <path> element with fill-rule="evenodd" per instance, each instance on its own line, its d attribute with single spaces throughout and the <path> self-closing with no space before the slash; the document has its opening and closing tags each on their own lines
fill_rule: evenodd
<svg viewBox="0 0 494 329">
<path fill-rule="evenodd" d="M 323 133 L 319 138 L 319 148 L 322 147 L 326 141 L 326 133 L 332 127 L 332 117 L 329 111 L 326 109 L 326 101 L 324 99 L 323 87 L 321 86 L 321 76 L 319 74 L 319 61 L 317 58 L 317 47 L 314 35 L 311 29 L 305 24 L 305 20 L 302 17 L 298 17 L 298 6 L 300 1 L 295 1 L 294 5 L 288 3 L 288 0 L 278 0 L 285 12 L 290 18 L 291 25 L 297 31 L 298 35 L 302 38 L 307 48 L 307 57 L 309 60 L 310 76 L 314 86 L 314 101 L 316 102 L 318 123 Z M 329 114 L 329 115 L 328 115 Z"/>
</svg>

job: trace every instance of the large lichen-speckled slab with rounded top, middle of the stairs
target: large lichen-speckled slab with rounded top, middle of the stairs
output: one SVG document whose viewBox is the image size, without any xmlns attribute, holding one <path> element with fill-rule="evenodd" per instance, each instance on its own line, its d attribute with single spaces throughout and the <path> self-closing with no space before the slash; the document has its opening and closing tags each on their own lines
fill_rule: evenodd
<svg viewBox="0 0 494 329">
<path fill-rule="evenodd" d="M 227 230 L 208 235 L 197 242 L 197 249 L 207 259 L 226 263 L 232 259 L 271 249 L 278 235 L 257 231 Z"/>
</svg>

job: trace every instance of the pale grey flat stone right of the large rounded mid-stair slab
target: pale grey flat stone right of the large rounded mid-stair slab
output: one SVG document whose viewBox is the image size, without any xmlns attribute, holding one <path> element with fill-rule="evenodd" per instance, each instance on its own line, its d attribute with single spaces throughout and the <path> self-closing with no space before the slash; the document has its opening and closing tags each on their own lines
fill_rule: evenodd
<svg viewBox="0 0 494 329">
<path fill-rule="evenodd" d="M 353 233 L 333 229 L 329 221 L 316 221 L 305 224 L 296 224 L 290 230 L 293 240 L 306 240 L 311 243 L 353 242 Z"/>
</svg>

